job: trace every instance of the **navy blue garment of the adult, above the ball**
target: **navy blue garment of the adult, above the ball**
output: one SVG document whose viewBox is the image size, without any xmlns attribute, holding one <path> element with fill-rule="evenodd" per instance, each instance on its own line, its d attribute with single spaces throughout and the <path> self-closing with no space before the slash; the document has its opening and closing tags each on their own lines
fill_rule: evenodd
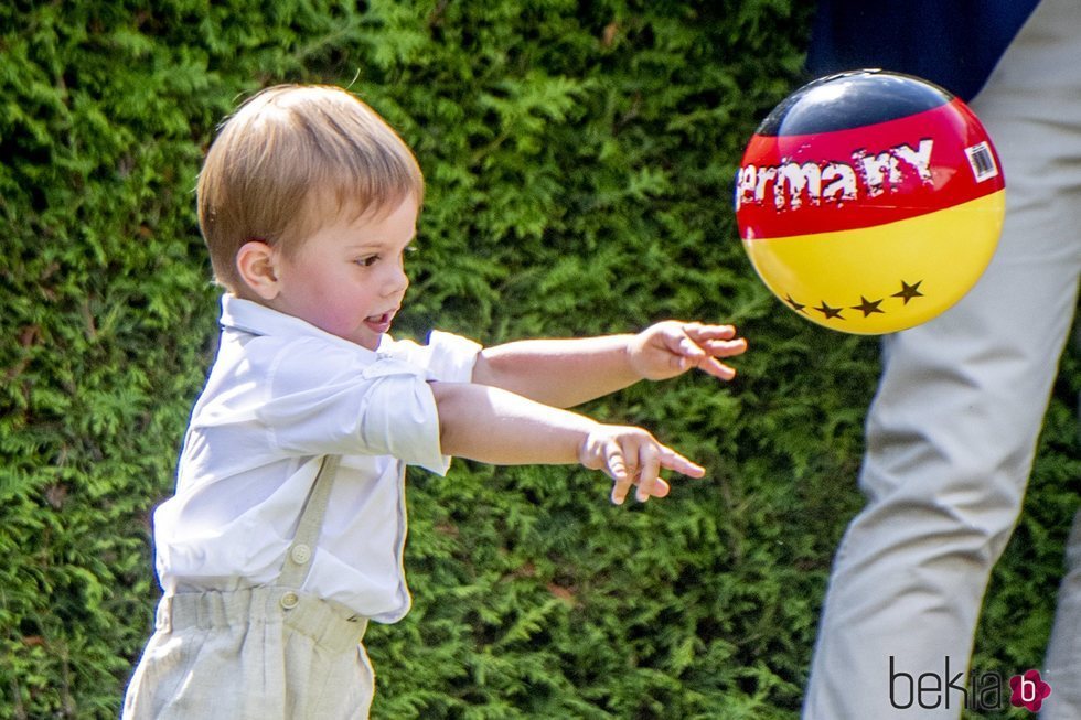
<svg viewBox="0 0 1081 720">
<path fill-rule="evenodd" d="M 807 69 L 908 73 L 971 100 L 1039 0 L 820 0 Z"/>
</svg>

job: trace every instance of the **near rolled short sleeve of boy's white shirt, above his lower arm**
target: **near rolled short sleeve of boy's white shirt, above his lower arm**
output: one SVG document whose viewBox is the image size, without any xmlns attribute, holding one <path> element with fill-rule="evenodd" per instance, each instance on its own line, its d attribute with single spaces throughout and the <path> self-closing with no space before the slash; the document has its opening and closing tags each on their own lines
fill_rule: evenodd
<svg viewBox="0 0 1081 720">
<path fill-rule="evenodd" d="M 446 474 L 450 458 L 424 368 L 394 357 L 361 363 L 338 348 L 313 353 L 308 342 L 276 358 L 259 410 L 281 452 L 392 455 Z"/>
</svg>

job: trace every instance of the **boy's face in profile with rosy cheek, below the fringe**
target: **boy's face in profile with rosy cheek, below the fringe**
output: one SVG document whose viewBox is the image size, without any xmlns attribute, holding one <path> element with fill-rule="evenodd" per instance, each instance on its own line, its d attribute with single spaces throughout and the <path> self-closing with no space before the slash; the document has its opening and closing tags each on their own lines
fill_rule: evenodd
<svg viewBox="0 0 1081 720">
<path fill-rule="evenodd" d="M 355 219 L 345 207 L 291 255 L 275 254 L 278 292 L 267 304 L 375 350 L 409 287 L 403 256 L 418 209 L 413 197 L 390 213 L 376 208 Z"/>
</svg>

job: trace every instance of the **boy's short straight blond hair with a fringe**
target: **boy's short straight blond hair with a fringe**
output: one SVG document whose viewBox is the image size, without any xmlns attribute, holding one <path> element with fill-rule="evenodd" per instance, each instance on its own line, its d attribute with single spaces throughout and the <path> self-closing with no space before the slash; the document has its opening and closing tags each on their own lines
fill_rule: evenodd
<svg viewBox="0 0 1081 720">
<path fill-rule="evenodd" d="M 236 292 L 245 243 L 290 252 L 328 213 L 390 212 L 422 195 L 413 152 L 360 98 L 325 85 L 278 85 L 222 125 L 199 175 L 199 225 L 215 280 Z"/>
</svg>

